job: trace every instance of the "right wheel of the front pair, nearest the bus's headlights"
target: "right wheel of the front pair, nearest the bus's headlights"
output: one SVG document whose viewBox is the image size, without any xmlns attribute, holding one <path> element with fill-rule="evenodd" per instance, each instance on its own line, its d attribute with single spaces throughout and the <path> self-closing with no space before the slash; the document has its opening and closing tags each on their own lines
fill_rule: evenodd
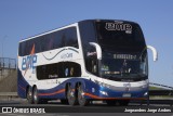
<svg viewBox="0 0 173 116">
<path fill-rule="evenodd" d="M 78 87 L 78 102 L 81 106 L 85 106 L 89 104 L 89 100 L 84 98 L 84 91 L 81 85 Z"/>
</svg>

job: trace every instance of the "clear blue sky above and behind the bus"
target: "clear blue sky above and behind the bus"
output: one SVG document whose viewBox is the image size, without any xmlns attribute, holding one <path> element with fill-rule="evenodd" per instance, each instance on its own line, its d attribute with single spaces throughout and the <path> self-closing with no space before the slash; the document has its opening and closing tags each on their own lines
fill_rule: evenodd
<svg viewBox="0 0 173 116">
<path fill-rule="evenodd" d="M 0 0 L 0 57 L 17 57 L 18 41 L 82 20 L 125 20 L 141 25 L 149 81 L 173 87 L 173 0 Z"/>
</svg>

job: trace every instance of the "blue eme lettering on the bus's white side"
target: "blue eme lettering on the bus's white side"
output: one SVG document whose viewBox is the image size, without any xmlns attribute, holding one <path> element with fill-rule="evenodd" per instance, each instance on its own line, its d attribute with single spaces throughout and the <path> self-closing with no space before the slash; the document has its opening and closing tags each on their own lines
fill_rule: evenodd
<svg viewBox="0 0 173 116">
<path fill-rule="evenodd" d="M 36 68 L 36 63 L 37 63 L 37 55 L 28 55 L 23 57 L 22 62 L 22 69 L 35 69 Z"/>
</svg>

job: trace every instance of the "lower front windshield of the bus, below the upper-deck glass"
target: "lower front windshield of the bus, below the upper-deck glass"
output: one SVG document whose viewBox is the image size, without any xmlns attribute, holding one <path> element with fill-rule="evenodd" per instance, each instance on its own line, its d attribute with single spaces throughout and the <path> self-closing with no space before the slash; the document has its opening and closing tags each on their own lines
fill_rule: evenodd
<svg viewBox="0 0 173 116">
<path fill-rule="evenodd" d="M 142 54 L 104 53 L 101 75 L 108 79 L 147 78 L 148 64 L 146 51 Z"/>
</svg>

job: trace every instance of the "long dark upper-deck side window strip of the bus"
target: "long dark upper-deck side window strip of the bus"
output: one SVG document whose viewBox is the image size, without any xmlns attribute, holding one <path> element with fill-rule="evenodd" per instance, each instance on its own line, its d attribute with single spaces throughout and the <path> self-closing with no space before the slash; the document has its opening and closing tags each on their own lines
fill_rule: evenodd
<svg viewBox="0 0 173 116">
<path fill-rule="evenodd" d="M 77 29 L 69 27 L 19 43 L 18 55 L 29 55 L 35 47 L 35 53 L 54 50 L 63 47 L 78 47 Z"/>
</svg>

